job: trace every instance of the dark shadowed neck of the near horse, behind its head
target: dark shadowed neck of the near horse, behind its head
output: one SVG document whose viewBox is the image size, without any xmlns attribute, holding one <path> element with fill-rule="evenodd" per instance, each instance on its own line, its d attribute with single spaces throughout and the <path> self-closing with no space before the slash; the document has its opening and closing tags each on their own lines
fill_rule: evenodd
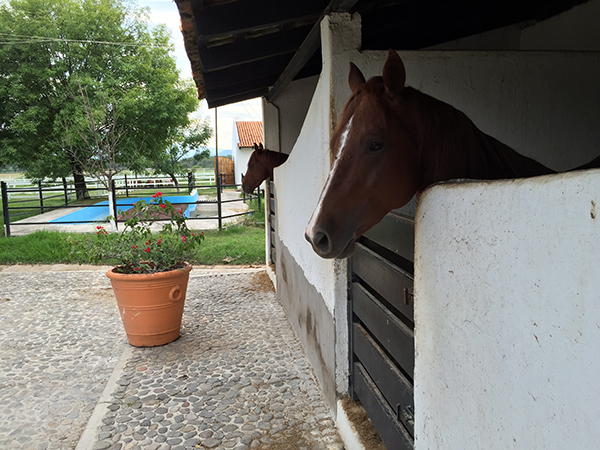
<svg viewBox="0 0 600 450">
<path fill-rule="evenodd" d="M 423 187 L 457 178 L 494 180 L 554 173 L 485 134 L 461 111 L 411 89 L 418 109 Z"/>
</svg>

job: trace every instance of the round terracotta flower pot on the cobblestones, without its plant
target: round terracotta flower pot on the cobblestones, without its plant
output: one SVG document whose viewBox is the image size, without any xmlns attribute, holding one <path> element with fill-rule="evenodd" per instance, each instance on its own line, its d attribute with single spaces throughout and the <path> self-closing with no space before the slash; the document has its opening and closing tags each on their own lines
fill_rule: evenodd
<svg viewBox="0 0 600 450">
<path fill-rule="evenodd" d="M 117 298 L 129 343 L 165 345 L 179 337 L 191 264 L 159 273 L 106 272 Z"/>
</svg>

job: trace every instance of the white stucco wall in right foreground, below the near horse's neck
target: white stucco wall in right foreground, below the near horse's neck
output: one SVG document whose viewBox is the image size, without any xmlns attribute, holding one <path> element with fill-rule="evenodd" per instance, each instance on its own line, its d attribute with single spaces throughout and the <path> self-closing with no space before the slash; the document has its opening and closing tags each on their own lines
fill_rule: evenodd
<svg viewBox="0 0 600 450">
<path fill-rule="evenodd" d="M 600 170 L 438 185 L 417 213 L 416 449 L 597 449 Z"/>
</svg>

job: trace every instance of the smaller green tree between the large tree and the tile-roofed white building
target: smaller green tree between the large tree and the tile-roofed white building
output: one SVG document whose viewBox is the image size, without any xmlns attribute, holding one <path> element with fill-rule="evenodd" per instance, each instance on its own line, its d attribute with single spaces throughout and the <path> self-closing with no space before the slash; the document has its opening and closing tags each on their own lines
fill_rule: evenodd
<svg viewBox="0 0 600 450">
<path fill-rule="evenodd" d="M 152 167 L 155 172 L 169 175 L 179 191 L 177 175 L 182 174 L 185 169 L 182 161 L 192 152 L 195 152 L 193 158 L 196 161 L 209 158 L 210 153 L 206 143 L 212 137 L 212 133 L 208 118 L 195 120 L 187 127 L 174 129 L 170 136 L 170 145 L 163 153 L 163 157 L 153 161 Z"/>
</svg>

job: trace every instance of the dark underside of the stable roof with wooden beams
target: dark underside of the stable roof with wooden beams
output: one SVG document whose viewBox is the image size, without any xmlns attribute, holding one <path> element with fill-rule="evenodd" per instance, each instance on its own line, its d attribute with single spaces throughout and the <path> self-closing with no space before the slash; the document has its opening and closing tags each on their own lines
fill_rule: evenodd
<svg viewBox="0 0 600 450">
<path fill-rule="evenodd" d="M 358 12 L 362 49 L 416 50 L 540 21 L 584 0 L 175 0 L 198 97 L 273 98 L 321 71 L 321 18 Z"/>
</svg>

